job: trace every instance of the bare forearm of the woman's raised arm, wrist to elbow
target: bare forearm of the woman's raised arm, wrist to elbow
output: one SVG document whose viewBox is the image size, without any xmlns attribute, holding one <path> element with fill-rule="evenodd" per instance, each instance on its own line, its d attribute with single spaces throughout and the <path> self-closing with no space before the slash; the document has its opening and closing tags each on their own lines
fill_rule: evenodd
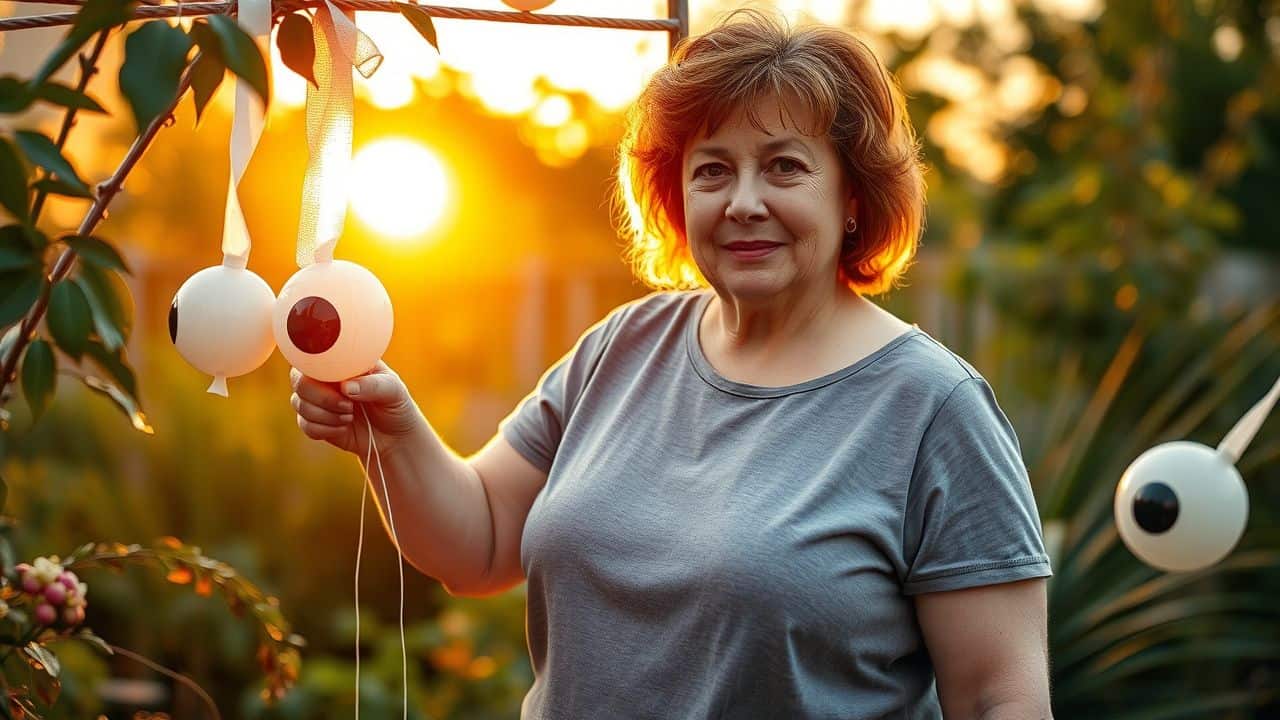
<svg viewBox="0 0 1280 720">
<path fill-rule="evenodd" d="M 379 450 L 388 493 L 383 492 L 376 460 L 367 470 L 388 537 L 394 523 L 404 559 L 449 592 L 474 587 L 486 570 L 493 543 L 493 521 L 479 475 L 425 418 L 417 432 Z"/>
</svg>

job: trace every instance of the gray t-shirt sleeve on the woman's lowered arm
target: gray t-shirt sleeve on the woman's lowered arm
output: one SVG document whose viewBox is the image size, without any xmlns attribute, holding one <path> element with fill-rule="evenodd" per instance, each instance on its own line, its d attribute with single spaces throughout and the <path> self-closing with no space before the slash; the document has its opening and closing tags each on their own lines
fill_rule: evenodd
<svg viewBox="0 0 1280 720">
<path fill-rule="evenodd" d="M 1018 436 L 980 377 L 960 382 L 924 430 L 902 550 L 905 594 L 1052 574 Z"/>
</svg>

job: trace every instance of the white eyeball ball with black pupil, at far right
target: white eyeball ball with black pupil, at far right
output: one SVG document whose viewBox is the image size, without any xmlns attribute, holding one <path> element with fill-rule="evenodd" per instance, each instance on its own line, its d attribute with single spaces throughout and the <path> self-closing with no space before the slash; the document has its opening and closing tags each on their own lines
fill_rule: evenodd
<svg viewBox="0 0 1280 720">
<path fill-rule="evenodd" d="M 1134 460 L 1115 495 L 1120 538 L 1148 565 L 1199 570 L 1235 547 L 1249 497 L 1224 454 L 1198 442 L 1166 442 Z"/>
</svg>

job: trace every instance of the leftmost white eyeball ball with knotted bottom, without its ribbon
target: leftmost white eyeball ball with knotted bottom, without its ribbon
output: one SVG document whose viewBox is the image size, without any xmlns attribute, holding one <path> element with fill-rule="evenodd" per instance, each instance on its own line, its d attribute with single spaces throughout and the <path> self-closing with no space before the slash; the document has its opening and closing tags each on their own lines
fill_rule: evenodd
<svg viewBox="0 0 1280 720">
<path fill-rule="evenodd" d="M 236 259 L 187 278 L 169 307 L 169 340 L 197 370 L 214 377 L 209 392 L 227 397 L 227 378 L 256 370 L 275 348 L 266 281 Z"/>
</svg>

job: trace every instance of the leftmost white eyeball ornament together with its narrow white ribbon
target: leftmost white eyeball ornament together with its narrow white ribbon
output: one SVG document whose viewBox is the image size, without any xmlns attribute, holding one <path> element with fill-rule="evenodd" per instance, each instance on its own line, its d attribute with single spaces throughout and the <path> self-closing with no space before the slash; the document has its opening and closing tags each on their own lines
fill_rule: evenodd
<svg viewBox="0 0 1280 720">
<path fill-rule="evenodd" d="M 271 31 L 270 0 L 241 0 L 237 17 L 265 54 L 264 40 Z M 247 268 L 252 242 L 239 202 L 239 182 L 265 124 L 262 99 L 237 76 L 223 263 L 188 278 L 169 307 L 169 340 L 187 363 L 214 377 L 209 392 L 223 397 L 228 378 L 256 370 L 275 348 L 271 333 L 275 293 Z"/>
</svg>

